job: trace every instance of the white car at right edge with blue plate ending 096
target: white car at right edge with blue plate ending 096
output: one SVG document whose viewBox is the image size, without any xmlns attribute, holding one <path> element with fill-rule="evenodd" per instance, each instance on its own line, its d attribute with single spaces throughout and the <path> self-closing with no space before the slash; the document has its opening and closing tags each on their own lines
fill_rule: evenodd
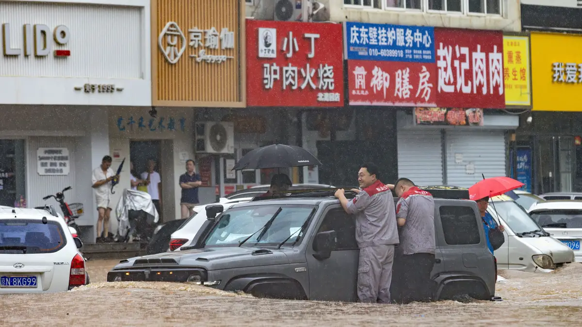
<svg viewBox="0 0 582 327">
<path fill-rule="evenodd" d="M 576 262 L 582 262 L 582 201 L 550 200 L 534 204 L 531 218 L 546 232 L 574 251 Z"/>
</svg>

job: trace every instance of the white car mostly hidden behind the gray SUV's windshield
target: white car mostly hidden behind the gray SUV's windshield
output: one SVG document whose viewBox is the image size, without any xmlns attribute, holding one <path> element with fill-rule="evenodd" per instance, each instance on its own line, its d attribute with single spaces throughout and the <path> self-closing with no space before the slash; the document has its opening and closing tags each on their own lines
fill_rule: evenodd
<svg viewBox="0 0 582 327">
<path fill-rule="evenodd" d="M 182 227 L 176 232 L 172 233 L 170 238 L 170 248 L 169 251 L 179 251 L 180 248 L 184 245 L 189 245 L 190 242 L 198 233 L 198 230 L 203 225 L 203 223 L 207 220 L 206 218 L 206 207 L 207 205 L 214 205 L 214 204 L 222 204 L 224 209 L 230 208 L 233 204 L 242 203 L 242 202 L 249 202 L 253 200 L 253 198 L 237 198 L 233 200 L 227 200 L 222 198 L 218 203 L 210 203 L 204 205 L 197 205 L 194 207 L 194 214 L 186 222 L 182 224 Z"/>
</svg>

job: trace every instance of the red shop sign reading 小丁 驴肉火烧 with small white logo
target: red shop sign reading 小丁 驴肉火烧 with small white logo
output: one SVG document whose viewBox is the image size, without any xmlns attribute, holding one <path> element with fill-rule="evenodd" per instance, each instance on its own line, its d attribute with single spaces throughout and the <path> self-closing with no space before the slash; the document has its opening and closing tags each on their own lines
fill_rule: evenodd
<svg viewBox="0 0 582 327">
<path fill-rule="evenodd" d="M 343 106 L 341 24 L 247 20 L 248 106 Z"/>
</svg>

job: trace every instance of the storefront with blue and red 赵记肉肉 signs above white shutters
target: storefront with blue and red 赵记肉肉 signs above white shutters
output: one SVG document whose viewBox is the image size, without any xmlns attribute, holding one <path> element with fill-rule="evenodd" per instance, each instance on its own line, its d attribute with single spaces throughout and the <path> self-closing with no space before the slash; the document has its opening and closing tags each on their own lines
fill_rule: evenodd
<svg viewBox="0 0 582 327">
<path fill-rule="evenodd" d="M 506 176 L 506 131 L 519 119 L 498 110 L 501 31 L 347 22 L 345 33 L 349 104 L 397 113 L 398 177 L 469 187 Z"/>
</svg>

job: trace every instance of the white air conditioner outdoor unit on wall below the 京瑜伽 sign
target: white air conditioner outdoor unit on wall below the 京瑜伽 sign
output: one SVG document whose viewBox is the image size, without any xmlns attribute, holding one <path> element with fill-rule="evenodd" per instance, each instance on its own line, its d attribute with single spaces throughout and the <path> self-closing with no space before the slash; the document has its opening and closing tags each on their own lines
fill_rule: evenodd
<svg viewBox="0 0 582 327">
<path fill-rule="evenodd" d="M 235 125 L 232 122 L 199 122 L 195 133 L 198 153 L 235 152 Z"/>
</svg>

